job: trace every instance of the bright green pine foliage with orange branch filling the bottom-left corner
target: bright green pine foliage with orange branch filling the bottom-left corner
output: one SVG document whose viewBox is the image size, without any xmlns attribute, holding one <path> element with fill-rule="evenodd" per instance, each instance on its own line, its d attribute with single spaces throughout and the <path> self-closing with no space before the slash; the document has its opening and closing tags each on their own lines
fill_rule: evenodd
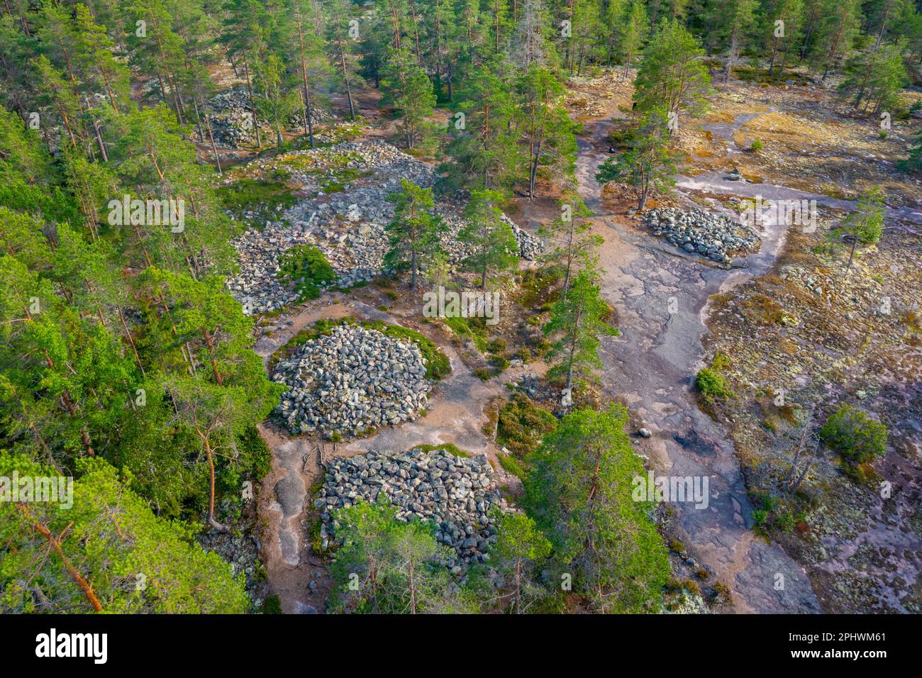
<svg viewBox="0 0 922 678">
<path fill-rule="evenodd" d="M 244 613 L 241 578 L 195 543 L 195 529 L 154 516 L 127 480 L 100 458 L 81 459 L 73 506 L 0 502 L 0 610 L 106 613 Z M 57 476 L 22 456 L 0 455 L 0 476 Z M 50 536 L 42 536 L 47 530 Z M 60 545 L 53 548 L 52 540 Z M 143 583 L 143 586 L 139 586 Z M 41 596 L 35 595 L 35 588 Z"/>
</svg>

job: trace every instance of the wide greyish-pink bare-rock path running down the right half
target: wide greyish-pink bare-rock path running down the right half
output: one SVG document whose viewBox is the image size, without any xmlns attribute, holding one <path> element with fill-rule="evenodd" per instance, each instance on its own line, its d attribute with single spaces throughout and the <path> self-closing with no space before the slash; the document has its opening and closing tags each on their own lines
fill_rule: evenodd
<svg viewBox="0 0 922 678">
<path fill-rule="evenodd" d="M 745 272 L 711 267 L 700 257 L 657 243 L 602 203 L 595 174 L 607 157 L 603 151 L 610 125 L 610 117 L 585 124 L 577 159 L 581 193 L 597 215 L 594 232 L 605 238 L 602 292 L 616 308 L 621 330 L 621 337 L 603 341 L 603 387 L 609 397 L 624 398 L 653 432 L 638 451 L 649 455 L 657 473 L 709 478 L 709 506 L 673 505 L 675 523 L 696 561 L 729 587 L 734 609 L 819 612 L 803 569 L 749 529 L 752 509 L 733 444 L 698 409 L 691 391 L 693 376 L 703 366 L 709 297 L 770 267 L 784 234 L 774 224 L 763 224 L 762 248 L 750 256 Z M 689 202 L 688 208 L 693 207 Z M 777 588 L 779 575 L 783 589 Z"/>
</svg>

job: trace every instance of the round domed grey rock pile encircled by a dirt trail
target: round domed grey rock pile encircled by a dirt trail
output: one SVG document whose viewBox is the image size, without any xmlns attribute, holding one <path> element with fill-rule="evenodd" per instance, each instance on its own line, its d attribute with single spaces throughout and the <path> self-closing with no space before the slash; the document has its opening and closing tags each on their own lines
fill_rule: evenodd
<svg viewBox="0 0 922 678">
<path fill-rule="evenodd" d="M 431 388 L 416 344 L 357 325 L 307 341 L 272 378 L 289 387 L 276 412 L 291 433 L 328 437 L 412 421 Z"/>
</svg>

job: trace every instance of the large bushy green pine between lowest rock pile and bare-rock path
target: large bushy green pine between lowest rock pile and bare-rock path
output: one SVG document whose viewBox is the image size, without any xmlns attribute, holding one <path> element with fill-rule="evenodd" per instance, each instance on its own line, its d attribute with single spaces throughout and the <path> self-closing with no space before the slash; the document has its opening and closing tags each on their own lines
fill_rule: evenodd
<svg viewBox="0 0 922 678">
<path fill-rule="evenodd" d="M 644 467 L 624 427 L 621 405 L 563 417 L 532 458 L 524 506 L 573 568 L 574 587 L 602 612 L 658 608 L 669 575 L 666 544 L 632 500 Z"/>
</svg>

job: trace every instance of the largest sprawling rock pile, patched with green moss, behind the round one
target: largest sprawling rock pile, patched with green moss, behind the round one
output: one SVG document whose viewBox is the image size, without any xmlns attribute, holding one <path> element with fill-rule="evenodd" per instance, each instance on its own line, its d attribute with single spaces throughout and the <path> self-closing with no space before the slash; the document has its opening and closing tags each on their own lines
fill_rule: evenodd
<svg viewBox="0 0 922 678">
<path fill-rule="evenodd" d="M 337 285 L 341 287 L 387 273 L 384 226 L 394 218 L 394 203 L 387 196 L 400 190 L 401 179 L 431 186 L 436 178 L 425 163 L 378 140 L 298 151 L 281 160 L 257 161 L 254 169 L 285 170 L 292 181 L 301 184 L 303 193 L 312 196 L 287 209 L 281 220 L 267 222 L 262 231 L 246 231 L 234 243 L 241 271 L 228 280 L 228 287 L 244 311 L 254 315 L 297 301 L 293 288 L 279 282 L 277 275 L 279 257 L 298 244 L 317 246 L 337 271 Z M 337 177 L 356 175 L 361 178 L 344 180 L 337 186 L 341 190 L 325 195 L 324 185 L 337 182 Z M 466 223 L 460 216 L 463 208 L 463 202 L 456 198 L 436 204 L 436 211 L 448 225 L 443 246 L 455 265 L 472 254 L 472 247 L 458 237 Z M 511 220 L 507 222 L 518 242 L 519 256 L 537 259 L 543 250 L 540 241 Z"/>
</svg>

